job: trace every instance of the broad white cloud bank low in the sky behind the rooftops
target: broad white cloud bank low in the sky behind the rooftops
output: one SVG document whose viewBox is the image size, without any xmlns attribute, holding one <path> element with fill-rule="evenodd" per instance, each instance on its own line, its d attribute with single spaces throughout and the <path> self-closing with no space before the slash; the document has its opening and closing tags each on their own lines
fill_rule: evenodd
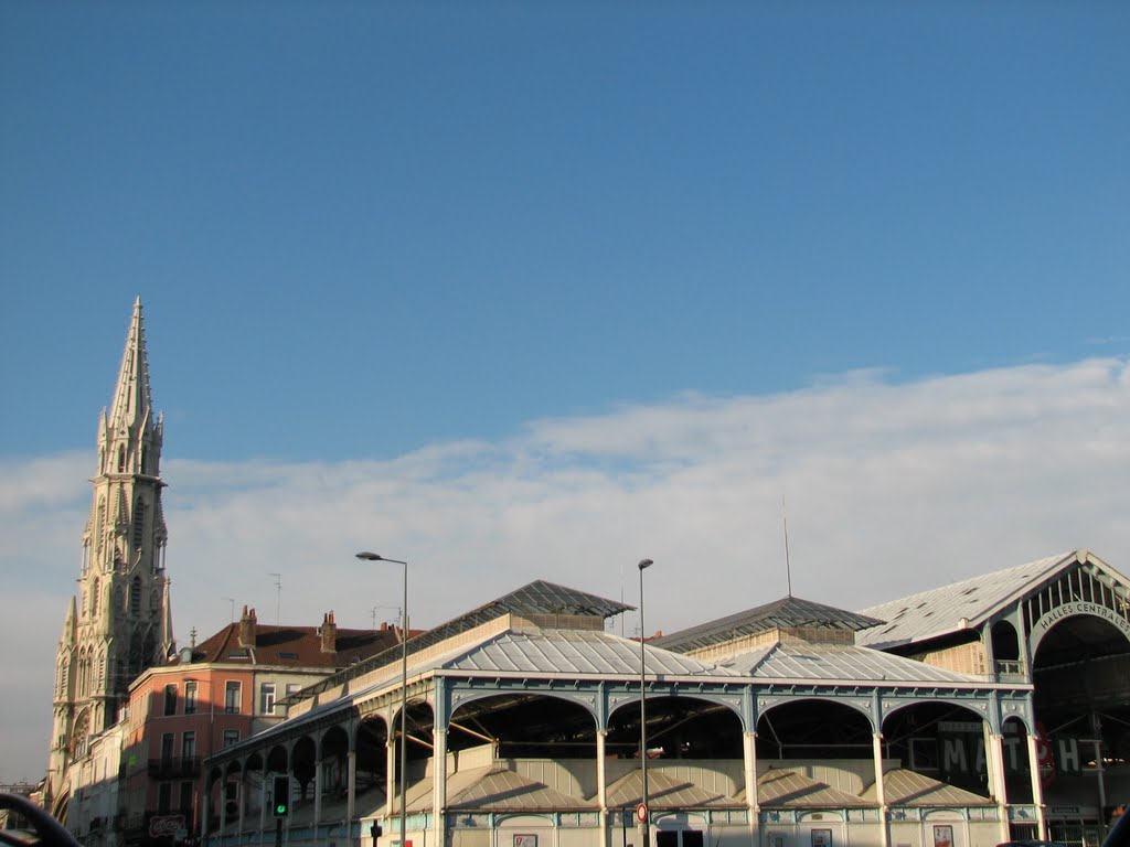
<svg viewBox="0 0 1130 847">
<path fill-rule="evenodd" d="M 794 593 L 849 609 L 1075 547 L 1125 567 L 1128 419 L 1130 368 L 1095 359 L 686 395 L 391 462 L 220 464 L 176 460 L 171 443 L 174 623 L 182 644 L 193 627 L 203 638 L 233 601 L 273 621 L 270 573 L 282 575 L 288 622 L 315 625 L 332 609 L 339 625 L 362 627 L 373 606 L 392 619 L 400 570 L 353 556 L 372 549 L 411 561 L 417 626 L 537 578 L 611 597 L 623 590 L 633 603 L 634 564 L 646 556 L 657 562 L 649 629 L 671 631 L 784 594 L 782 496 Z M 92 451 L 5 466 L 0 660 L 25 695 L 0 722 L 14 751 L 2 778 L 45 761 L 51 657 L 93 461 Z"/>
</svg>

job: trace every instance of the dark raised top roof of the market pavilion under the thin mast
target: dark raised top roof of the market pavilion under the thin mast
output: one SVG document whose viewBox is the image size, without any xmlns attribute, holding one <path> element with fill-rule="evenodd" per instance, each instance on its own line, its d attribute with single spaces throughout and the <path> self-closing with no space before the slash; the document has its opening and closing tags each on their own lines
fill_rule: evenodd
<svg viewBox="0 0 1130 847">
<path fill-rule="evenodd" d="M 672 632 L 654 639 L 653 644 L 664 649 L 687 653 L 771 629 L 819 627 L 858 631 L 881 622 L 857 612 L 790 596 Z"/>
</svg>

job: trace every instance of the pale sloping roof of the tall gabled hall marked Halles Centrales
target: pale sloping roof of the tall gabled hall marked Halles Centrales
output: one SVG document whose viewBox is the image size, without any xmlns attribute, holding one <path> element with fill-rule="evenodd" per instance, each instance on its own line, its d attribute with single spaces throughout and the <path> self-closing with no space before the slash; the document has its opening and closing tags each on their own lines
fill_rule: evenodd
<svg viewBox="0 0 1130 847">
<path fill-rule="evenodd" d="M 1086 551 L 1059 553 L 871 606 L 864 613 L 886 623 L 860 632 L 857 643 L 884 649 L 977 627 L 1060 570 L 1086 560 L 1101 564 Z"/>
</svg>

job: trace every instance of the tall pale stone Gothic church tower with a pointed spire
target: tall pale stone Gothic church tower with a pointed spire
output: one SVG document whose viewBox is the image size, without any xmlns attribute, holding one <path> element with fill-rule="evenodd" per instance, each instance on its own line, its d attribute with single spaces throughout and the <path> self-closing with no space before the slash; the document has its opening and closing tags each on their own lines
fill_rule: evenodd
<svg viewBox="0 0 1130 847">
<path fill-rule="evenodd" d="M 138 298 L 113 405 L 98 421 L 78 595 L 67 609 L 55 653 L 49 807 L 66 803 L 67 768 L 87 736 L 112 725 L 129 684 L 175 649 L 160 506 L 163 433 L 149 392 Z"/>
</svg>

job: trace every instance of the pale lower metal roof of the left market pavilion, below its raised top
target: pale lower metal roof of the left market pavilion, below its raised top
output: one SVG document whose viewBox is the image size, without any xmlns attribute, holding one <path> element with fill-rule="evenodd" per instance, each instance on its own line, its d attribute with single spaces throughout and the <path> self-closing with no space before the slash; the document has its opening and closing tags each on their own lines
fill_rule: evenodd
<svg viewBox="0 0 1130 847">
<path fill-rule="evenodd" d="M 733 672 L 680 653 L 644 645 L 649 674 L 670 676 L 719 675 Z M 640 643 L 611 632 L 571 629 L 512 629 L 447 654 L 440 665 L 466 673 L 537 673 L 577 675 L 636 675 Z"/>
</svg>

